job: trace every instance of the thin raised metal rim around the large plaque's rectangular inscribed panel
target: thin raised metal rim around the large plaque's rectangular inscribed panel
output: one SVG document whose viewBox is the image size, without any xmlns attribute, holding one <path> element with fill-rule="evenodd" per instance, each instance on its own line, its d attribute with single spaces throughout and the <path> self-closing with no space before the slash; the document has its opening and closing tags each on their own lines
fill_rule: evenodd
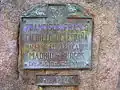
<svg viewBox="0 0 120 90">
<path fill-rule="evenodd" d="M 71 4 L 71 3 L 69 3 Z M 55 4 L 48 4 L 48 5 L 55 5 Z M 65 6 L 65 4 L 57 4 L 57 5 L 62 5 L 62 6 Z M 55 5 L 56 6 L 56 5 Z M 50 68 L 24 68 L 24 59 L 23 59 L 23 54 L 22 54 L 22 33 L 21 33 L 21 30 L 22 30 L 22 27 L 23 27 L 23 19 L 24 18 L 47 18 L 47 16 L 36 16 L 36 17 L 27 17 L 27 16 L 21 16 L 20 18 L 20 32 L 19 32 L 19 56 L 20 56 L 20 60 L 22 62 L 22 69 L 24 70 L 92 70 L 92 51 L 93 51 L 93 31 L 94 31 L 94 18 L 92 17 L 66 17 L 66 19 L 90 19 L 92 21 L 92 31 L 91 31 L 91 60 L 90 60 L 90 63 L 89 63 L 89 67 L 85 67 L 85 68 L 82 68 L 82 67 L 79 67 L 79 68 L 57 68 L 57 67 L 50 67 Z"/>
</svg>

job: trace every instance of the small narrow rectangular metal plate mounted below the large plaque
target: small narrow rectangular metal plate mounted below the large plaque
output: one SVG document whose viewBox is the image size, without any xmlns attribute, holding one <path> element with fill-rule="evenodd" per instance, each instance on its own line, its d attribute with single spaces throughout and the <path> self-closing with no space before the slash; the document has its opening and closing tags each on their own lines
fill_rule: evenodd
<svg viewBox="0 0 120 90">
<path fill-rule="evenodd" d="M 42 75 L 36 77 L 38 86 L 77 86 L 79 77 L 77 75 Z"/>
</svg>

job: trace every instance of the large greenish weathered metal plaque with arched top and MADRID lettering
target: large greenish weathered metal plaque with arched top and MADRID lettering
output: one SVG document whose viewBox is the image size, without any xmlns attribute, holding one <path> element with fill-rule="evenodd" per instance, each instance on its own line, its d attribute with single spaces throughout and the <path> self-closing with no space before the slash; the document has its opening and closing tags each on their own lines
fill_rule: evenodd
<svg viewBox="0 0 120 90">
<path fill-rule="evenodd" d="M 91 68 L 92 16 L 77 4 L 42 4 L 21 17 L 24 69 Z"/>
</svg>

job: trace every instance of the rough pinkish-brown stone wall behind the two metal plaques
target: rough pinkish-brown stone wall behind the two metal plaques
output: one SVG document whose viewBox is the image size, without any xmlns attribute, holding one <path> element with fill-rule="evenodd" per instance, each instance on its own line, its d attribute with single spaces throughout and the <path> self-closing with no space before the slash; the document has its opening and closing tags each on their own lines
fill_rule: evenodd
<svg viewBox="0 0 120 90">
<path fill-rule="evenodd" d="M 67 3 L 79 3 L 94 16 L 92 70 L 20 70 L 20 16 L 40 2 L 41 0 L 0 2 L 0 90 L 37 90 L 34 85 L 36 74 L 78 74 L 81 78 L 79 90 L 120 90 L 120 32 L 119 22 L 117 23 L 120 16 L 119 0 L 62 0 Z M 57 0 L 45 2 L 53 3 Z"/>
</svg>

